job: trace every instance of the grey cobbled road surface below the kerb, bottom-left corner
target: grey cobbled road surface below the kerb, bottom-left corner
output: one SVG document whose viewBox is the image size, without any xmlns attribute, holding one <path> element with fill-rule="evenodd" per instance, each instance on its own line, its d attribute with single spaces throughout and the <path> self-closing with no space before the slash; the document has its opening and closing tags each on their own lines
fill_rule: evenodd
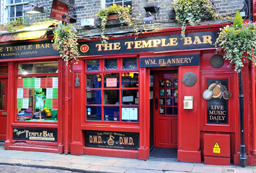
<svg viewBox="0 0 256 173">
<path fill-rule="evenodd" d="M 76 173 L 68 170 L 54 170 L 37 167 L 0 165 L 0 173 Z"/>
</svg>

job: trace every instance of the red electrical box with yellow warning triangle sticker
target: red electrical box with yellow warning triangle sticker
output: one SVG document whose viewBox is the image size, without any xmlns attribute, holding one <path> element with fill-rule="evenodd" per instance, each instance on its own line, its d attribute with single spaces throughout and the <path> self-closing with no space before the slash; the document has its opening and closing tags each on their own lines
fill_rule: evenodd
<svg viewBox="0 0 256 173">
<path fill-rule="evenodd" d="M 230 165 L 230 135 L 204 134 L 204 164 Z"/>
</svg>

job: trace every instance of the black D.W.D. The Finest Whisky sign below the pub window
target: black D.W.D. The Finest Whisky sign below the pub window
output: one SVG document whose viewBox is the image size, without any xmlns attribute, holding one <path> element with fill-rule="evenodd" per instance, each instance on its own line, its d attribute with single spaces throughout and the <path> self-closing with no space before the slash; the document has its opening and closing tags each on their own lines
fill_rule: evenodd
<svg viewBox="0 0 256 173">
<path fill-rule="evenodd" d="M 87 131 L 85 146 L 99 148 L 131 149 L 140 147 L 139 133 Z"/>
</svg>

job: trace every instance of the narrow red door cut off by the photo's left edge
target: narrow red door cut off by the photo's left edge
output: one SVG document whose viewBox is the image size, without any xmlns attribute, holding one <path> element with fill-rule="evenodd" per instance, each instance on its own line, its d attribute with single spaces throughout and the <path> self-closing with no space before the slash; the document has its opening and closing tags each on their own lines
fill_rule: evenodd
<svg viewBox="0 0 256 173">
<path fill-rule="evenodd" d="M 7 79 L 0 78 L 0 141 L 6 140 Z"/>
</svg>

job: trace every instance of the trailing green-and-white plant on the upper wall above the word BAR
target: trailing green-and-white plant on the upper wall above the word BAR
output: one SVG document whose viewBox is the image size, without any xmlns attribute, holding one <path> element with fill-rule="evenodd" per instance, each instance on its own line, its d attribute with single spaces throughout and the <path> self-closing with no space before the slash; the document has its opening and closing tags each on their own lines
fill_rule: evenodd
<svg viewBox="0 0 256 173">
<path fill-rule="evenodd" d="M 217 18 L 217 14 L 213 12 L 211 2 L 209 0 L 175 0 L 173 9 L 176 13 L 176 20 L 182 24 L 181 35 L 185 37 L 186 21 L 191 26 L 195 26 L 201 19 L 212 17 Z"/>
</svg>

